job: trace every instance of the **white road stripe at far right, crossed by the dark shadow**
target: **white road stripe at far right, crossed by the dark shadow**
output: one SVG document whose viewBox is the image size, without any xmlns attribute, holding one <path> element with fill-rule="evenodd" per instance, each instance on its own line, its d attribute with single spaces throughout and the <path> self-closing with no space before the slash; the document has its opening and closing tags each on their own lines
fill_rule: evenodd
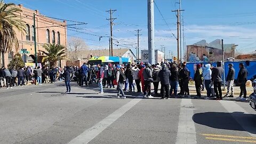
<svg viewBox="0 0 256 144">
<path fill-rule="evenodd" d="M 250 125 L 251 122 L 249 121 L 249 119 L 246 119 L 244 117 L 245 114 L 249 114 L 245 109 L 237 105 L 237 103 L 234 101 L 221 100 L 220 103 L 228 111 L 228 113 L 231 113 L 231 115 L 235 118 L 237 123 L 243 127 L 244 131 L 247 131 L 247 133 L 249 133 L 252 137 L 256 137 L 256 134 L 254 134 L 256 132 L 255 127 Z M 250 108 L 249 104 L 248 108 Z"/>
</svg>

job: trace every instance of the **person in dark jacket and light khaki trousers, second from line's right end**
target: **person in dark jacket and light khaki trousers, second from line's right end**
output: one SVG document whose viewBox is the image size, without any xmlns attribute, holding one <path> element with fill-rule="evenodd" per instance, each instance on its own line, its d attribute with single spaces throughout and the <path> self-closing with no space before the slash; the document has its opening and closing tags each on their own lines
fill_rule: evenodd
<svg viewBox="0 0 256 144">
<path fill-rule="evenodd" d="M 235 69 L 233 68 L 233 63 L 229 63 L 228 64 L 229 69 L 228 69 L 228 75 L 227 75 L 227 82 L 228 82 L 228 86 L 227 86 L 227 93 L 226 95 L 224 95 L 224 98 L 233 98 L 234 97 L 234 80 L 235 80 Z M 229 92 L 231 91 L 231 95 L 229 95 Z"/>
</svg>

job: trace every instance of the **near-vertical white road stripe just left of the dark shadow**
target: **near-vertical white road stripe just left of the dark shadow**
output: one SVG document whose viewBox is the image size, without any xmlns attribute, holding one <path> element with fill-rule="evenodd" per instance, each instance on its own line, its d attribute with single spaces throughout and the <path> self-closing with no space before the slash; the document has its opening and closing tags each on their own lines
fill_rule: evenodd
<svg viewBox="0 0 256 144">
<path fill-rule="evenodd" d="M 182 99 L 180 105 L 181 108 L 176 143 L 197 143 L 195 123 L 192 119 L 194 115 L 193 103 L 191 99 Z"/>
</svg>

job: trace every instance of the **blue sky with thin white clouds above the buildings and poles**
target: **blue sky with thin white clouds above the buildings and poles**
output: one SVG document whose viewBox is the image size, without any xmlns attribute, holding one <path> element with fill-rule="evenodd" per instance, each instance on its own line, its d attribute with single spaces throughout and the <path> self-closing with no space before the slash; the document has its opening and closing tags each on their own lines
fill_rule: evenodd
<svg viewBox="0 0 256 144">
<path fill-rule="evenodd" d="M 98 36 L 109 36 L 109 9 L 117 10 L 113 27 L 114 43 L 120 47 L 130 47 L 133 51 L 137 43 L 134 30 L 142 29 L 141 49 L 147 49 L 147 0 L 5 0 L 23 4 L 29 9 L 39 10 L 49 17 L 87 22 L 79 26 L 79 31 Z M 166 51 L 177 53 L 175 13 L 178 0 L 155 0 L 168 26 L 155 5 L 155 48 L 166 47 Z M 224 39 L 224 43 L 235 43 L 238 52 L 256 50 L 256 1 L 253 0 L 181 0 L 182 18 L 186 44 L 202 39 L 210 43 L 214 39 Z M 72 24 L 72 23 L 69 23 Z M 169 29 L 170 27 L 170 29 Z M 108 38 L 99 41 L 98 36 L 68 30 L 68 35 L 84 38 L 90 49 L 108 49 Z M 122 46 L 120 46 L 122 45 Z M 118 46 L 114 45 L 114 48 Z"/>
</svg>

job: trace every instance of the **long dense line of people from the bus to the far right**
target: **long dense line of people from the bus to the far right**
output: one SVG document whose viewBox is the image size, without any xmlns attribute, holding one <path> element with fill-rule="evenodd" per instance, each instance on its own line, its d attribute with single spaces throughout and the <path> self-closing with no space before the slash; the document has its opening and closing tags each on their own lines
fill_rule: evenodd
<svg viewBox="0 0 256 144">
<path fill-rule="evenodd" d="M 247 70 L 243 63 L 239 63 L 240 70 L 238 72 L 237 83 L 240 85 L 241 93 L 237 99 L 246 99 L 246 87 Z M 87 85 L 87 81 L 92 81 L 92 74 L 94 75 L 94 81 L 97 79 L 97 83 L 100 87 L 99 94 L 103 94 L 103 88 L 114 88 L 117 85 L 117 97 L 122 94 L 122 98 L 126 98 L 124 91 L 135 92 L 135 86 L 137 92 L 143 92 L 144 98 L 153 98 L 151 94 L 151 83 L 154 85 L 154 96 L 160 96 L 162 99 L 169 99 L 170 97 L 190 97 L 189 82 L 190 71 L 186 67 L 186 62 L 177 65 L 176 62 L 170 63 L 157 63 L 156 65 L 150 65 L 150 63 L 137 63 L 127 65 L 112 65 L 109 63 L 106 66 L 97 65 L 92 67 L 84 63 L 81 68 L 76 69 L 78 78 L 78 84 L 83 86 L 83 81 Z M 234 97 L 234 81 L 235 81 L 235 69 L 233 63 L 229 64 L 229 71 L 227 75 L 227 93 L 222 97 L 221 85 L 223 68 L 221 62 L 217 62 L 217 67 L 213 67 L 211 63 L 206 65 L 197 64 L 194 82 L 196 88 L 196 95 L 194 98 L 201 98 L 201 91 L 206 89 L 207 95 L 205 99 L 217 99 Z M 96 82 L 96 81 L 95 81 Z M 161 84 L 161 89 L 158 92 L 158 86 Z M 124 89 L 123 89 L 124 86 Z M 178 93 L 178 87 L 180 86 L 180 92 Z"/>
</svg>

